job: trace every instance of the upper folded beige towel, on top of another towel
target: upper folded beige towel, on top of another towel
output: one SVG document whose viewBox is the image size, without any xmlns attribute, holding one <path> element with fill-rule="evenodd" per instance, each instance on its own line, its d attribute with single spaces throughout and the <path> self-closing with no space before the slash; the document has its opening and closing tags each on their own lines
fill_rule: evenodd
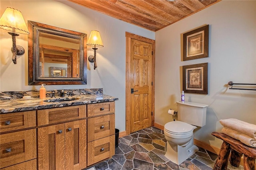
<svg viewBox="0 0 256 170">
<path fill-rule="evenodd" d="M 244 133 L 250 137 L 256 137 L 256 125 L 247 123 L 245 121 L 240 121 L 238 119 L 222 119 L 220 124 L 229 129 Z"/>
</svg>

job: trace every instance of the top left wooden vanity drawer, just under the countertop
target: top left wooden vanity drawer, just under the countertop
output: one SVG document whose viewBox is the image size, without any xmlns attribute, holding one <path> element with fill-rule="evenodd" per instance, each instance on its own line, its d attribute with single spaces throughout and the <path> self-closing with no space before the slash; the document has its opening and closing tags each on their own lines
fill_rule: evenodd
<svg viewBox="0 0 256 170">
<path fill-rule="evenodd" d="M 36 126 L 36 111 L 23 111 L 0 115 L 0 132 L 14 131 Z"/>
</svg>

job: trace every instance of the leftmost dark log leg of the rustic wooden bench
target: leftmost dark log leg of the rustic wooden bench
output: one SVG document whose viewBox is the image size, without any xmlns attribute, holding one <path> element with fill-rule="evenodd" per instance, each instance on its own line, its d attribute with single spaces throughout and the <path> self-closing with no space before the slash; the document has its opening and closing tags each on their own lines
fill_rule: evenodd
<svg viewBox="0 0 256 170">
<path fill-rule="evenodd" d="M 230 145 L 223 141 L 220 153 L 218 155 L 218 158 L 216 159 L 216 162 L 214 164 L 213 170 L 226 170 L 228 166 L 228 157 L 230 154 Z"/>
</svg>

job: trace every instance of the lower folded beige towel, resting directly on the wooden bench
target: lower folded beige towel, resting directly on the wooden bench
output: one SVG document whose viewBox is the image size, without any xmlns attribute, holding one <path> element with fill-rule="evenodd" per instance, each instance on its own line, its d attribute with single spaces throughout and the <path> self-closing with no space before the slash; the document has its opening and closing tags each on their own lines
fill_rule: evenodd
<svg viewBox="0 0 256 170">
<path fill-rule="evenodd" d="M 242 143 L 244 143 L 245 145 L 249 146 L 249 147 L 254 147 L 256 148 L 256 138 L 252 138 L 248 135 L 245 135 L 243 133 L 239 133 L 238 131 L 234 131 L 232 129 L 228 129 L 226 127 L 224 127 L 222 130 L 222 133 L 237 139 L 238 141 L 241 141 Z"/>
</svg>

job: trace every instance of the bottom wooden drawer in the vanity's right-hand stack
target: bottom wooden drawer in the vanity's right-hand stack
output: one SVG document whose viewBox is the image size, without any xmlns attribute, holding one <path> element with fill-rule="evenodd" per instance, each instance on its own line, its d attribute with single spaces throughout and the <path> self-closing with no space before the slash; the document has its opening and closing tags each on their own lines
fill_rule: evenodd
<svg viewBox="0 0 256 170">
<path fill-rule="evenodd" d="M 90 166 L 115 154 L 115 135 L 88 143 L 87 165 Z"/>
</svg>

